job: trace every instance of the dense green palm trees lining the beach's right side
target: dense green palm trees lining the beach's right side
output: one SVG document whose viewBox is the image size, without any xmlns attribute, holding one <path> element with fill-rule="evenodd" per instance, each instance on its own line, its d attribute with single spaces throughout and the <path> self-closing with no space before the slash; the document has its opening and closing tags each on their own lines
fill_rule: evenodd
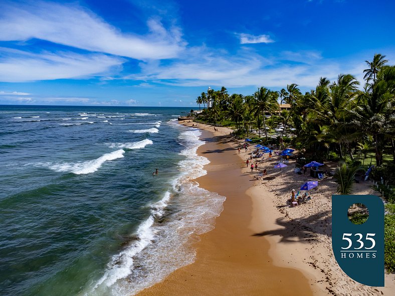
<svg viewBox="0 0 395 296">
<path fill-rule="evenodd" d="M 388 66 L 380 54 L 365 62 L 363 89 L 350 74 L 339 74 L 333 82 L 320 78 L 316 88 L 305 94 L 295 83 L 279 92 L 261 87 L 246 96 L 229 95 L 225 87 L 209 88 L 196 100 L 199 107 L 207 107 L 197 119 L 226 123 L 237 136 L 250 137 L 253 143 L 292 145 L 306 161 L 340 160 L 336 180 L 342 194 L 350 192 L 357 167 L 366 170 L 373 164 L 369 177 L 383 178 L 389 188 L 381 185 L 380 189 L 395 203 L 395 66 Z M 279 102 L 289 108 L 280 108 Z M 387 211 L 393 209 L 387 206 Z M 385 264 L 389 272 L 395 271 L 393 214 L 385 215 Z"/>
</svg>

